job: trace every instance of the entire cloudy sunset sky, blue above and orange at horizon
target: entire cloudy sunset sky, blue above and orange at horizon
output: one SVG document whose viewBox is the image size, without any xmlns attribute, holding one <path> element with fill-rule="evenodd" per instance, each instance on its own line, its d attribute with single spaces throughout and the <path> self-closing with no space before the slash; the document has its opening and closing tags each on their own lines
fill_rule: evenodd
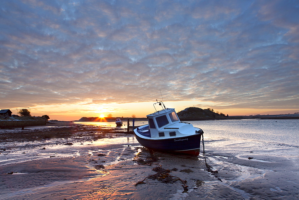
<svg viewBox="0 0 299 200">
<path fill-rule="evenodd" d="M 0 109 L 299 112 L 299 1 L 1 0 Z M 161 91 L 161 92 L 160 92 Z"/>
</svg>

